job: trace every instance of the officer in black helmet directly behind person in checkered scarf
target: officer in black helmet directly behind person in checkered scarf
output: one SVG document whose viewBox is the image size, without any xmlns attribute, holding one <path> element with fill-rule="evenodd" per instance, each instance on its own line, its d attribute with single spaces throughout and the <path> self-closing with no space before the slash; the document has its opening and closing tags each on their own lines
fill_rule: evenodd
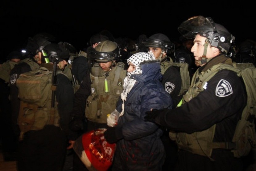
<svg viewBox="0 0 256 171">
<path fill-rule="evenodd" d="M 162 85 L 171 96 L 174 103 L 173 106 L 176 106 L 182 97 L 182 78 L 180 68 L 171 66 L 172 59 L 167 56 L 167 52 L 173 48 L 173 43 L 165 34 L 157 33 L 143 39 L 142 44 L 148 48 L 148 53 L 154 54 L 155 58 L 160 60 L 161 74 L 163 74 Z M 177 146 L 170 140 L 168 133 L 169 131 L 166 130 L 161 137 L 166 151 L 163 170 L 172 169 L 176 163 Z"/>
</svg>

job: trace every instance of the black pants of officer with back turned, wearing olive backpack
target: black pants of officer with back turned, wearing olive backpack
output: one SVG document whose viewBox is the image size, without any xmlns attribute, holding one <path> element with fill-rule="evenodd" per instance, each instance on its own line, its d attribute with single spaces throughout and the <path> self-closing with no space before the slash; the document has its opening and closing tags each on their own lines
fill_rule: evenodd
<svg viewBox="0 0 256 171">
<path fill-rule="evenodd" d="M 60 127 L 46 125 L 42 130 L 29 131 L 19 142 L 19 171 L 62 171 L 66 154 L 66 137 Z"/>
</svg>

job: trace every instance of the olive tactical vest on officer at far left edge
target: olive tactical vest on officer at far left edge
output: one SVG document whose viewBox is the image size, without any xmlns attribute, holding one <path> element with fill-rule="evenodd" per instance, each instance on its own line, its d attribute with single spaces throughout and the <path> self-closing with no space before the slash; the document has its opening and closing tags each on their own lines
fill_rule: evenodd
<svg viewBox="0 0 256 171">
<path fill-rule="evenodd" d="M 5 83 L 9 83 L 10 81 L 10 71 L 14 68 L 14 66 L 18 64 L 13 61 L 6 61 L 0 67 L 0 78 L 5 81 Z"/>
</svg>

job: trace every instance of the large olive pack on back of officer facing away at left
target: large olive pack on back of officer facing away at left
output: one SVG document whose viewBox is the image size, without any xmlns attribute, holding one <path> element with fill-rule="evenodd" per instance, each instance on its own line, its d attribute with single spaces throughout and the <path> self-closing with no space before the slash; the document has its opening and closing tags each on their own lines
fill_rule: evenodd
<svg viewBox="0 0 256 171">
<path fill-rule="evenodd" d="M 18 117 L 20 140 L 27 131 L 40 130 L 45 125 L 60 126 L 56 97 L 54 108 L 52 107 L 52 91 L 56 90 L 56 86 L 52 85 L 52 71 L 40 67 L 38 70 L 20 74 L 16 85 L 21 100 Z"/>
</svg>

